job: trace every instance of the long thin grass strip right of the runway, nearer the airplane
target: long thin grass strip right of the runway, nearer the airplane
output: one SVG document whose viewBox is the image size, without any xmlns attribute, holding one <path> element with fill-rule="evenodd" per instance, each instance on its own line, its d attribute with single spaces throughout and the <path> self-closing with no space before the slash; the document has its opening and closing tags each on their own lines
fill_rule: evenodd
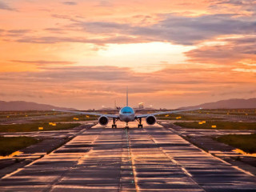
<svg viewBox="0 0 256 192">
<path fill-rule="evenodd" d="M 174 122 L 177 126 L 194 128 L 194 129 L 217 129 L 217 130 L 256 130 L 256 122 L 220 122 L 209 121 L 202 125 L 198 122 Z M 216 128 L 212 128 L 216 126 Z"/>
</svg>

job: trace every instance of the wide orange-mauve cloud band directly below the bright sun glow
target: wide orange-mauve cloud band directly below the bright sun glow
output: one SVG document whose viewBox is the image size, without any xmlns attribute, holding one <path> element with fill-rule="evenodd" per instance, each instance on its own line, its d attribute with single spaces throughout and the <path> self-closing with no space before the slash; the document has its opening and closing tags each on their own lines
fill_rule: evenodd
<svg viewBox="0 0 256 192">
<path fill-rule="evenodd" d="M 26 61 L 21 61 L 26 62 Z M 34 62 L 32 62 L 34 63 Z M 37 62 L 35 62 L 37 63 Z M 42 62 L 51 63 L 51 62 Z M 222 78 L 214 78 L 213 75 L 226 70 L 226 73 L 232 72 L 232 68 L 183 68 L 180 66 L 170 65 L 163 70 L 151 73 L 138 73 L 129 67 L 117 66 L 40 66 L 39 71 L 33 72 L 6 72 L 2 73 L 1 80 L 8 81 L 11 79 L 31 80 L 34 82 L 116 82 L 116 83 L 141 83 L 150 86 L 162 85 L 199 85 L 199 84 L 216 84 L 224 83 Z M 170 76 L 171 74 L 171 76 Z M 202 74 L 198 76 L 198 74 Z M 212 78 L 208 78 L 209 75 Z M 184 76 L 180 80 L 180 76 Z M 217 77 L 216 76 L 216 77 Z M 10 79 L 9 79 L 10 80 Z M 226 80 L 225 80 L 226 81 Z M 238 83 L 239 81 L 226 81 L 226 83 Z M 242 81 L 243 82 L 243 81 Z M 147 88 L 148 89 L 148 88 Z"/>
</svg>

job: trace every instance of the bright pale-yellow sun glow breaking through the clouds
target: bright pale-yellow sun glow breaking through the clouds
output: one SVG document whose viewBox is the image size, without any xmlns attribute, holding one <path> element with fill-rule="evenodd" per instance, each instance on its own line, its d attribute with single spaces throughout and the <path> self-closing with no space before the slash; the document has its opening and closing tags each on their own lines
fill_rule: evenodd
<svg viewBox="0 0 256 192">
<path fill-rule="evenodd" d="M 187 58 L 183 53 L 192 49 L 194 46 L 167 42 L 108 44 L 104 50 L 98 50 L 98 56 L 113 66 L 130 66 L 135 70 L 139 67 L 142 72 L 150 72 L 161 70 L 167 64 L 186 62 Z"/>
</svg>

